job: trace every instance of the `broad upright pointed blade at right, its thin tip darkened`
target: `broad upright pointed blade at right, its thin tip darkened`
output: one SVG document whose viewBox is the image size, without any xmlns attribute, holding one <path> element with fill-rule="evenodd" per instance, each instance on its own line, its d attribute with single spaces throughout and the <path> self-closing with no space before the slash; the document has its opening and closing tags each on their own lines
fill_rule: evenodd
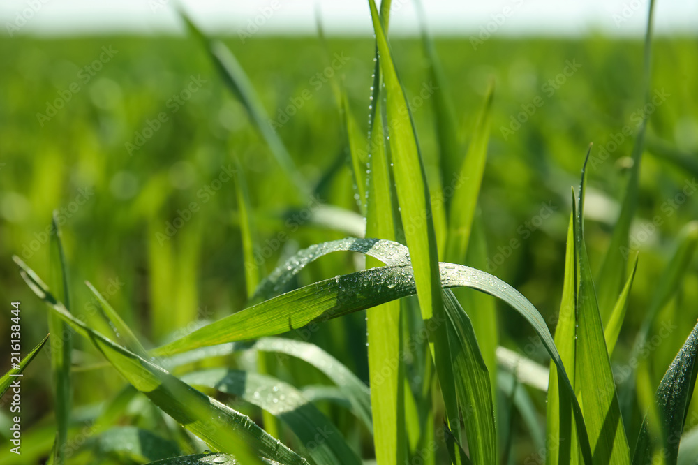
<svg viewBox="0 0 698 465">
<path fill-rule="evenodd" d="M 591 147 L 590 147 L 591 152 Z M 588 153 L 587 153 L 588 160 Z M 584 242 L 584 190 L 586 161 L 582 168 L 579 197 L 574 212 L 574 266 L 577 281 L 576 357 L 579 392 L 584 420 L 593 450 L 594 463 L 630 464 L 630 448 L 625 438 L 621 406 L 611 369 L 604 329 L 591 278 L 591 267 Z"/>
</svg>

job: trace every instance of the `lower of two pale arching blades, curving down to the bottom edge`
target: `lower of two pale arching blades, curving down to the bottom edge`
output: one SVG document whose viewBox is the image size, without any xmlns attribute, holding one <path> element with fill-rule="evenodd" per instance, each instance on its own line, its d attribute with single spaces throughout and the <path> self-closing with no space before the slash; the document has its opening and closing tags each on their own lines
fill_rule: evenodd
<svg viewBox="0 0 698 465">
<path fill-rule="evenodd" d="M 339 429 L 292 385 L 251 371 L 225 368 L 195 371 L 182 376 L 181 380 L 188 385 L 235 395 L 279 418 L 318 464 L 362 463 Z"/>
</svg>

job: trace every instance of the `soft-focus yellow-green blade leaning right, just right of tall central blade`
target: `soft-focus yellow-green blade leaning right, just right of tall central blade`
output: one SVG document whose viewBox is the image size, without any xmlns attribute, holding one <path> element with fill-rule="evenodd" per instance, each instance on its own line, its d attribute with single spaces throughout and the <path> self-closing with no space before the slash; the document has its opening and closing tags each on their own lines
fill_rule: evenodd
<svg viewBox="0 0 698 465">
<path fill-rule="evenodd" d="M 473 230 L 473 218 L 477 209 L 477 195 L 480 193 L 485 160 L 487 159 L 487 142 L 491 126 L 490 109 L 492 106 L 494 86 L 490 84 L 485 103 L 477 117 L 473 140 L 470 142 L 466 157 L 460 166 L 459 182 L 462 185 L 454 189 L 449 209 L 448 235 L 445 260 L 461 263 L 468 251 L 468 242 Z M 450 174 L 452 177 L 453 174 Z M 444 180 L 448 182 L 447 178 Z"/>
</svg>

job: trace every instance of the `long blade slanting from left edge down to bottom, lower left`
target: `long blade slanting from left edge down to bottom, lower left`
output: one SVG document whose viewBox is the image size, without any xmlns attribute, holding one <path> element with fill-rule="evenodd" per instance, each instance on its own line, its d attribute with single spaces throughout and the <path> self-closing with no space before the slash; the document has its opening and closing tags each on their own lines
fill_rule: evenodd
<svg viewBox="0 0 698 465">
<path fill-rule="evenodd" d="M 307 464 L 302 457 L 269 436 L 245 415 L 207 397 L 153 362 L 91 330 L 66 310 L 20 258 L 15 256 L 14 259 L 24 281 L 48 304 L 52 313 L 60 316 L 77 334 L 91 341 L 129 383 L 186 429 L 200 436 L 211 448 L 230 452 L 244 463 L 258 463 L 258 456 L 261 456 L 282 464 Z"/>
</svg>

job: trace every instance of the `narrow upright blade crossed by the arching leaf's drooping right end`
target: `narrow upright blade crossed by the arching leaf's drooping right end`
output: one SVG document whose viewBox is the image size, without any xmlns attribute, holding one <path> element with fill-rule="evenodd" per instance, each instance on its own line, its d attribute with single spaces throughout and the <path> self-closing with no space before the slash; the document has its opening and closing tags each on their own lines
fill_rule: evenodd
<svg viewBox="0 0 698 465">
<path fill-rule="evenodd" d="M 570 381 L 577 386 L 575 377 L 577 371 L 577 310 L 574 301 L 577 288 L 577 272 L 574 258 L 574 213 L 570 213 L 570 224 L 567 228 L 567 251 L 565 253 L 565 275 L 563 295 L 560 301 L 558 324 L 555 329 L 555 345 L 560 358 L 569 370 Z M 563 408 L 562 397 L 566 393 L 558 385 L 558 369 L 550 366 L 548 380 L 548 401 L 546 406 L 547 421 L 547 450 L 548 465 L 577 464 L 579 452 L 577 434 L 572 424 L 569 408 Z"/>
</svg>

